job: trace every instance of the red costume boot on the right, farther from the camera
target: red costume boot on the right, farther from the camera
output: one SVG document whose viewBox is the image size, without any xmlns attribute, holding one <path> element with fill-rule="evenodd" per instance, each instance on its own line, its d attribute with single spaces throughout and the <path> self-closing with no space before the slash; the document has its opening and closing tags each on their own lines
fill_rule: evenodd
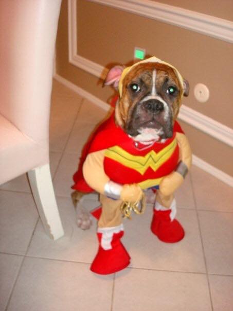
<svg viewBox="0 0 233 311">
<path fill-rule="evenodd" d="M 151 231 L 166 243 L 175 243 L 183 239 L 185 232 L 180 222 L 175 218 L 175 200 L 172 201 L 171 209 L 166 209 L 159 203 L 155 203 L 154 216 L 151 222 Z"/>
</svg>

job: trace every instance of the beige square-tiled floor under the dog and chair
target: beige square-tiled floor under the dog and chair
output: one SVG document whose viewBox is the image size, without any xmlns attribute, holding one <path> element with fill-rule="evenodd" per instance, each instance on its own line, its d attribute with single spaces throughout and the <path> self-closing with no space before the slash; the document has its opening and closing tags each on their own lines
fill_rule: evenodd
<svg viewBox="0 0 233 311">
<path fill-rule="evenodd" d="M 77 228 L 70 185 L 82 145 L 104 116 L 54 81 L 50 161 L 65 236 L 46 236 L 26 175 L 0 187 L 0 310 L 232 311 L 232 188 L 195 166 L 176 194 L 186 231 L 180 243 L 162 243 L 150 232 L 148 206 L 124 222 L 129 268 L 108 276 L 89 271 L 96 222 L 88 231 Z M 98 206 L 97 197 L 86 205 Z"/>
</svg>

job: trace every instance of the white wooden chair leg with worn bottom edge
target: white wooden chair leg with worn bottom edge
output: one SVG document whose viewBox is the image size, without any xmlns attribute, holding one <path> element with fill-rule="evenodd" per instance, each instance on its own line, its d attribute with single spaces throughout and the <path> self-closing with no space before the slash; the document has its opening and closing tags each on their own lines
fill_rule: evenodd
<svg viewBox="0 0 233 311">
<path fill-rule="evenodd" d="M 52 239 L 64 235 L 61 218 L 53 190 L 49 164 L 28 171 L 32 194 L 45 231 Z"/>
</svg>

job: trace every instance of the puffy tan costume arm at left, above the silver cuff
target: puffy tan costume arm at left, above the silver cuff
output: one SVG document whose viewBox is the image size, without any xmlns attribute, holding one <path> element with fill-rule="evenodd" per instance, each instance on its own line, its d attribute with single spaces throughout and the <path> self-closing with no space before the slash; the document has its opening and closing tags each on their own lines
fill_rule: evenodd
<svg viewBox="0 0 233 311">
<path fill-rule="evenodd" d="M 86 183 L 100 194 L 104 194 L 104 186 L 110 180 L 103 167 L 104 150 L 91 152 L 83 164 L 83 176 Z"/>
</svg>

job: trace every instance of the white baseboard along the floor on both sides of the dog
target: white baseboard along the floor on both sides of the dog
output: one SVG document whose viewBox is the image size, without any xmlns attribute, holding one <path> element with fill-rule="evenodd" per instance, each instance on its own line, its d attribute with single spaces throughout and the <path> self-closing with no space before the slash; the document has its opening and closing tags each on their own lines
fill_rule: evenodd
<svg viewBox="0 0 233 311">
<path fill-rule="evenodd" d="M 66 80 L 60 75 L 55 74 L 53 78 L 56 79 L 58 82 L 62 83 L 63 85 L 65 85 L 65 87 L 73 90 L 74 92 L 78 93 L 82 97 L 92 101 L 93 103 L 95 103 L 95 105 L 104 109 L 105 111 L 109 111 L 111 109 L 111 106 L 105 103 L 103 100 L 83 90 L 82 88 L 78 87 L 76 84 Z M 192 125 L 192 122 L 190 122 L 190 124 Z M 210 165 L 209 163 L 205 162 L 199 157 L 196 157 L 195 155 L 192 156 L 192 164 L 200 167 L 204 171 L 208 172 L 210 175 L 218 178 L 219 180 L 233 187 L 233 177 L 230 175 L 227 175 L 224 171 L 218 169 L 217 167 Z"/>
</svg>

